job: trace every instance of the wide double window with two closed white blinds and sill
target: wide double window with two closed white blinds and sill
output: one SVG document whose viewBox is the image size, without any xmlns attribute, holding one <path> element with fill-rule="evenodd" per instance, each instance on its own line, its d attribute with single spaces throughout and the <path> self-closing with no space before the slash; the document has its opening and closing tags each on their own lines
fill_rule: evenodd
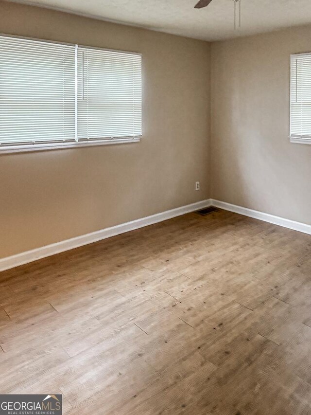
<svg viewBox="0 0 311 415">
<path fill-rule="evenodd" d="M 140 137 L 139 54 L 0 36 L 0 151 Z"/>
</svg>

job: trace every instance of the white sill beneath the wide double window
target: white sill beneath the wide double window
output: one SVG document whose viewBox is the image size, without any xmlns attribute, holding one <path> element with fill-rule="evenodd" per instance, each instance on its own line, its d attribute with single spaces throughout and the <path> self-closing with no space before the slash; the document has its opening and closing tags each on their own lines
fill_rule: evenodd
<svg viewBox="0 0 311 415">
<path fill-rule="evenodd" d="M 20 145 L 3 145 L 0 146 L 0 155 L 8 153 L 27 153 L 29 151 L 46 151 L 46 150 L 60 150 L 79 147 L 92 147 L 94 145 L 111 145 L 111 144 L 129 144 L 139 143 L 140 137 L 126 138 L 126 139 L 111 139 L 98 141 L 80 141 L 70 143 L 41 143 L 41 144 L 20 144 Z"/>
</svg>

